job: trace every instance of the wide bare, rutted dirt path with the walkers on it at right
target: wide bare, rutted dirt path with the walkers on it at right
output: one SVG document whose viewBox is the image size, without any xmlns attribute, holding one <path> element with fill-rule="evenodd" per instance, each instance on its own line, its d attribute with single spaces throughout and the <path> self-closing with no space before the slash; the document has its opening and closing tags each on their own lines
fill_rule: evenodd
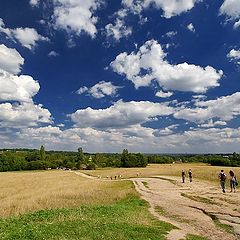
<svg viewBox="0 0 240 240">
<path fill-rule="evenodd" d="M 97 179 L 83 173 L 79 175 Z M 210 240 L 240 239 L 239 192 L 223 194 L 218 186 L 200 181 L 183 184 L 172 176 L 131 180 L 149 203 L 150 212 L 178 228 L 167 235 L 168 240 L 184 239 L 187 234 Z M 216 223 L 231 226 L 232 233 L 227 233 Z"/>
</svg>

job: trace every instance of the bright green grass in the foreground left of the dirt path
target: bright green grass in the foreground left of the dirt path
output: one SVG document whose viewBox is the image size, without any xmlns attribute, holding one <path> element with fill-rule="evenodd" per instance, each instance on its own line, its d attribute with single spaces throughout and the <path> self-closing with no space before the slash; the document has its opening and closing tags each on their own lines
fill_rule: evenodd
<svg viewBox="0 0 240 240">
<path fill-rule="evenodd" d="M 159 240 L 173 228 L 137 196 L 109 205 L 41 210 L 0 220 L 0 239 Z"/>
</svg>

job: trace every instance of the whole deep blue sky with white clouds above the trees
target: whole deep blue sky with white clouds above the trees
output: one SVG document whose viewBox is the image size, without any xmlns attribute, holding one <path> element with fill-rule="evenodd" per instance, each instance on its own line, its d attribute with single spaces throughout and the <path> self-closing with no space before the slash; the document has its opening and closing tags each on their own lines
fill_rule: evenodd
<svg viewBox="0 0 240 240">
<path fill-rule="evenodd" d="M 0 148 L 238 152 L 239 0 L 2 0 Z"/>
</svg>

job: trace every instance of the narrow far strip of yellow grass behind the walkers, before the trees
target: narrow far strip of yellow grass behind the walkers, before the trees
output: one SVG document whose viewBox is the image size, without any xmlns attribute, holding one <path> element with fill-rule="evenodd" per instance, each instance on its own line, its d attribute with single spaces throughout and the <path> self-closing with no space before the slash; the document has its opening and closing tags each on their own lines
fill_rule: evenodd
<svg viewBox="0 0 240 240">
<path fill-rule="evenodd" d="M 223 169 L 227 176 L 229 171 L 233 170 L 240 180 L 240 168 L 238 167 L 218 167 L 209 166 L 207 164 L 149 164 L 146 168 L 103 168 L 98 170 L 88 171 L 90 175 L 101 176 L 102 178 L 113 179 L 115 176 L 121 175 L 122 178 L 133 178 L 133 177 L 151 177 L 157 175 L 165 176 L 179 176 L 181 178 L 181 172 L 184 170 L 186 173 L 189 169 L 193 171 L 193 177 L 206 181 L 217 182 L 218 174 Z M 187 176 L 187 174 L 186 174 Z"/>
</svg>

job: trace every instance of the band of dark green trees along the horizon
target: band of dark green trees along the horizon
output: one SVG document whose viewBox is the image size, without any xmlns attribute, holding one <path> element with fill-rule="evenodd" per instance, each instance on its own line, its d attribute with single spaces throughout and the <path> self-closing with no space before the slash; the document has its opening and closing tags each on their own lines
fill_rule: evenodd
<svg viewBox="0 0 240 240">
<path fill-rule="evenodd" d="M 240 166 L 240 154 L 206 155 L 160 155 L 129 153 L 85 153 L 80 147 L 76 152 L 45 151 L 40 149 L 0 150 L 0 171 L 45 170 L 45 169 L 95 169 L 104 167 L 146 167 L 148 163 L 172 164 L 203 162 L 214 166 Z"/>
</svg>

